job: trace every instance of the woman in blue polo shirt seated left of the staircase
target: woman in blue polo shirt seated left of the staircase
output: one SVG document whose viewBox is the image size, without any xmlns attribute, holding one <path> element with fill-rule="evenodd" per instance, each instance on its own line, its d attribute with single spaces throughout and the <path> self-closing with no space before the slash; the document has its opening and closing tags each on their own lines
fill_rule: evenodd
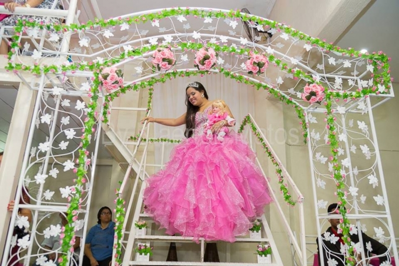
<svg viewBox="0 0 399 266">
<path fill-rule="evenodd" d="M 84 244 L 82 266 L 110 266 L 115 233 L 111 209 L 104 206 L 97 213 L 97 225 L 90 228 Z"/>
</svg>

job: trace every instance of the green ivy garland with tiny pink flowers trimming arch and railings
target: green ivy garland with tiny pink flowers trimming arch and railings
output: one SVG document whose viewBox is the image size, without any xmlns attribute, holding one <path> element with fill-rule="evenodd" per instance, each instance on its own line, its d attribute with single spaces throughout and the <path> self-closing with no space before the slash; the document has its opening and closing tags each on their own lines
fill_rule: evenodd
<svg viewBox="0 0 399 266">
<path fill-rule="evenodd" d="M 90 89 L 90 103 L 88 104 L 89 110 L 87 111 L 87 119 L 84 121 L 84 132 L 82 134 L 82 139 L 81 139 L 81 149 L 79 150 L 79 165 L 76 168 L 76 176 L 77 179 L 75 179 L 76 183 L 76 193 L 69 199 L 69 205 L 68 205 L 68 210 L 67 210 L 67 220 L 68 224 L 64 228 L 63 232 L 63 238 L 62 238 L 62 245 L 61 245 L 61 252 L 63 253 L 63 256 L 59 259 L 60 266 L 67 266 L 67 258 L 66 254 L 70 252 L 70 246 L 72 245 L 71 243 L 74 242 L 74 225 L 73 222 L 77 217 L 77 212 L 80 209 L 80 201 L 81 201 L 81 186 L 86 182 L 85 180 L 85 175 L 87 173 L 87 166 L 86 162 L 87 160 L 87 155 L 88 152 L 86 151 L 87 146 L 90 144 L 90 139 L 91 139 L 91 134 L 95 131 L 95 128 L 93 126 L 96 123 L 96 117 L 98 114 L 94 111 L 97 108 L 97 100 L 99 97 L 99 90 L 98 86 L 100 85 L 99 83 L 99 71 L 102 67 L 105 66 L 111 66 L 115 63 L 119 63 L 123 60 L 129 59 L 129 58 L 137 58 L 137 57 L 142 57 L 145 56 L 147 53 L 153 52 L 156 50 L 159 46 L 158 45 L 150 45 L 150 46 L 144 46 L 141 47 L 140 49 L 134 49 L 130 50 L 127 52 L 122 52 L 119 56 L 116 56 L 115 58 L 112 59 L 107 59 L 104 60 L 103 62 L 72 62 L 72 63 L 64 63 L 60 66 L 56 65 L 38 65 L 34 64 L 32 66 L 27 66 L 27 65 L 22 65 L 21 63 L 14 63 L 12 59 L 15 57 L 15 53 L 19 47 L 21 47 L 21 44 L 19 43 L 20 36 L 23 31 L 25 31 L 28 28 L 39 28 L 39 29 L 53 29 L 58 33 L 63 33 L 66 31 L 72 31 L 72 32 L 78 32 L 78 31 L 84 31 L 87 29 L 93 29 L 95 27 L 107 27 L 107 26 L 116 26 L 116 25 L 122 25 L 123 23 L 127 24 L 139 24 L 139 23 L 145 23 L 148 21 L 153 21 L 155 19 L 163 19 L 166 17 L 170 16 L 176 16 L 176 15 L 185 15 L 185 16 L 196 16 L 196 17 L 201 17 L 201 18 L 206 18 L 206 17 L 216 17 L 216 18 L 239 18 L 244 21 L 251 20 L 258 25 L 262 25 L 264 27 L 270 27 L 270 28 L 275 28 L 277 31 L 280 32 L 285 32 L 287 34 L 290 34 L 293 37 L 296 37 L 300 40 L 306 41 L 309 45 L 317 45 L 321 47 L 322 49 L 325 49 L 326 51 L 334 51 L 341 53 L 343 55 L 347 54 L 352 57 L 361 57 L 364 59 L 368 59 L 371 63 L 373 68 L 373 82 L 374 86 L 368 87 L 368 88 L 362 88 L 359 89 L 355 92 L 349 92 L 349 91 L 328 91 L 326 90 L 326 100 L 325 100 L 325 105 L 327 109 L 327 125 L 328 125 L 328 130 L 329 130 L 329 141 L 330 141 L 330 146 L 331 146 L 331 153 L 332 153 L 332 162 L 334 164 L 334 178 L 336 179 L 337 182 L 337 196 L 339 200 L 339 205 L 342 207 L 340 209 L 341 214 L 343 216 L 343 223 L 342 223 L 342 230 L 343 230 L 343 235 L 344 235 L 344 241 L 349 235 L 349 222 L 348 219 L 346 218 L 346 212 L 344 211 L 345 204 L 345 192 L 343 189 L 345 188 L 344 182 L 343 182 L 343 177 L 340 175 L 340 169 L 341 165 L 338 161 L 338 155 L 337 155 L 337 147 L 338 147 L 338 140 L 335 136 L 335 126 L 334 126 L 334 120 L 332 116 L 332 102 L 334 99 L 337 98 L 361 98 L 364 97 L 365 95 L 371 94 L 371 93 L 378 93 L 376 92 L 377 87 L 379 86 L 385 86 L 385 88 L 389 89 L 391 88 L 391 77 L 390 77 L 390 67 L 389 67 L 389 61 L 390 58 L 384 54 L 383 52 L 377 52 L 373 54 L 368 54 L 368 53 L 361 53 L 360 51 L 356 51 L 354 49 L 342 49 L 341 47 L 336 47 L 333 46 L 331 43 L 327 43 L 323 40 L 320 40 L 319 38 L 313 38 L 311 36 L 306 35 L 305 33 L 296 30 L 294 28 L 291 28 L 290 26 L 284 25 L 282 23 L 278 23 L 276 21 L 272 20 L 267 20 L 258 16 L 246 14 L 246 13 L 241 13 L 239 10 L 230 10 L 230 11 L 222 11 L 222 10 L 200 10 L 200 9 L 189 9 L 189 8 L 168 8 L 168 9 L 163 9 L 160 10 L 156 13 L 147 13 L 147 14 L 142 14 L 139 16 L 123 16 L 123 17 L 118 17 L 118 18 L 113 18 L 113 19 L 96 19 L 95 21 L 88 21 L 86 24 L 83 25 L 77 25 L 77 24 L 70 24 L 70 25 L 61 25 L 58 23 L 55 24 L 40 24 L 36 21 L 27 21 L 27 20 L 19 20 L 15 27 L 14 27 L 14 32 L 15 34 L 12 36 L 12 42 L 10 43 L 11 46 L 11 51 L 8 53 L 8 65 L 6 66 L 6 69 L 8 71 L 13 71 L 14 73 L 18 71 L 27 71 L 32 74 L 46 74 L 46 73 L 63 73 L 66 75 L 68 71 L 74 72 L 77 70 L 81 71 L 93 71 L 94 73 L 94 79 L 93 79 L 93 85 Z M 207 43 L 207 44 L 202 44 L 202 43 L 194 43 L 194 42 L 180 42 L 174 47 L 173 49 L 188 49 L 188 50 L 198 50 L 204 47 L 208 48 L 213 48 L 216 52 L 226 52 L 226 53 L 236 53 L 236 54 L 246 54 L 248 55 L 252 49 L 248 47 L 240 47 L 236 48 L 233 46 L 228 46 L 228 45 L 223 45 L 219 46 L 216 43 Z M 311 75 L 308 73 L 305 73 L 304 71 L 296 68 L 290 68 L 287 63 L 282 63 L 282 61 L 278 58 L 276 58 L 274 55 L 269 55 L 267 57 L 268 61 L 270 63 L 275 64 L 276 66 L 280 67 L 281 70 L 286 71 L 287 73 L 292 73 L 295 77 L 301 78 L 304 80 L 307 80 L 309 82 L 312 82 Z M 217 71 L 226 77 L 232 78 L 236 80 L 237 82 L 245 83 L 254 86 L 257 90 L 259 89 L 265 89 L 268 90 L 271 94 L 273 94 L 276 98 L 279 100 L 285 102 L 286 104 L 292 105 L 297 113 L 298 118 L 300 119 L 300 123 L 302 125 L 302 129 L 304 131 L 304 139 L 305 142 L 308 138 L 308 125 L 306 123 L 306 117 L 302 111 L 302 108 L 295 103 L 290 97 L 287 97 L 283 94 L 280 93 L 280 91 L 276 88 L 270 87 L 267 84 L 256 82 L 252 79 L 249 79 L 245 75 L 241 74 L 236 74 L 232 73 L 229 70 L 219 68 Z M 102 116 L 100 116 L 100 119 L 104 122 L 108 121 L 107 118 L 107 113 L 109 112 L 109 102 L 111 102 L 115 97 L 119 96 L 120 94 L 125 93 L 128 90 L 139 90 L 143 88 L 150 88 L 149 89 L 149 100 L 148 100 L 148 105 L 147 105 L 147 113 L 151 109 L 151 101 L 152 101 L 152 93 L 153 93 L 153 85 L 156 83 L 163 83 L 166 82 L 168 79 L 172 78 L 177 78 L 181 76 L 196 76 L 198 74 L 206 74 L 210 73 L 208 71 L 192 71 L 192 70 L 173 70 L 170 72 L 166 72 L 165 74 L 162 74 L 158 77 L 152 77 L 144 81 L 140 81 L 135 84 L 130 84 L 125 86 L 124 88 L 120 89 L 119 91 L 113 92 L 108 94 L 105 97 L 105 102 L 103 105 L 103 113 Z M 382 93 L 386 93 L 387 90 L 385 90 Z M 273 156 L 271 155 L 268 147 L 264 144 L 262 141 L 259 133 L 256 132 L 256 128 L 254 128 L 254 125 L 252 121 L 250 121 L 249 117 L 246 117 L 243 121 L 243 124 L 240 127 L 240 131 L 242 131 L 243 127 L 249 124 L 251 126 L 252 131 L 254 134 L 258 137 L 258 139 L 262 143 L 262 147 L 264 148 L 265 152 L 268 154 L 269 158 L 272 159 L 273 163 L 276 166 L 276 173 L 279 176 L 279 184 L 280 184 L 280 190 L 284 194 L 284 198 L 289 203 L 290 205 L 294 205 L 295 202 L 291 200 L 291 196 L 289 196 L 288 191 L 286 190 L 286 187 L 283 184 L 283 179 L 282 179 L 282 171 L 279 168 L 279 165 L 276 163 L 275 160 L 273 160 Z M 134 139 L 135 137 L 133 137 Z M 166 139 L 153 139 L 149 141 L 168 141 Z M 119 191 L 116 191 L 118 194 Z M 121 255 L 121 239 L 122 239 L 122 232 L 123 232 L 123 220 L 124 220 L 124 201 L 120 198 L 116 199 L 116 237 L 117 241 L 114 246 L 114 249 L 116 250 L 116 265 L 119 265 L 121 263 L 120 260 L 120 255 Z M 350 247 L 350 243 L 349 244 Z M 353 250 L 349 250 L 349 255 L 347 257 L 347 264 L 348 265 L 353 265 L 354 260 L 353 260 Z"/>
</svg>

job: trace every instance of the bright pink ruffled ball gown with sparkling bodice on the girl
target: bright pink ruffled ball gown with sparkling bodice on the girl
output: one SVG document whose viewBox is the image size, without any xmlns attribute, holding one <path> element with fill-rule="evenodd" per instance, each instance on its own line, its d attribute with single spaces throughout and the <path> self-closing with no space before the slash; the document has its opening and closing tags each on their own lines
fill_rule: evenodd
<svg viewBox="0 0 399 266">
<path fill-rule="evenodd" d="M 209 108 L 197 112 L 194 136 L 176 145 L 164 169 L 146 180 L 145 212 L 166 234 L 234 242 L 272 199 L 239 134 L 231 131 L 223 142 L 206 139 Z"/>
</svg>

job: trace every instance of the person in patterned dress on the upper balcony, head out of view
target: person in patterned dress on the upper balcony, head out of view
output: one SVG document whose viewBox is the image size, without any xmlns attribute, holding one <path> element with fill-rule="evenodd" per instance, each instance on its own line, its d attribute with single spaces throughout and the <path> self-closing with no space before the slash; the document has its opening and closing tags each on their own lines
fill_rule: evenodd
<svg viewBox="0 0 399 266">
<path fill-rule="evenodd" d="M 9 10 L 10 12 L 15 11 L 15 7 L 35 7 L 35 8 L 44 8 L 44 9 L 51 9 L 52 5 L 56 1 L 55 7 L 53 9 L 60 9 L 59 7 L 59 0 L 14 0 L 8 1 L 4 3 L 4 8 Z M 37 22 L 47 22 L 46 16 L 34 16 L 34 15 L 17 15 L 12 14 L 8 17 L 3 18 L 0 21 L 0 26 L 15 26 L 15 23 L 18 19 L 26 19 L 26 20 L 34 20 Z M 49 22 L 51 23 L 59 23 L 59 19 L 57 17 L 50 17 Z M 7 30 L 4 31 L 4 34 L 10 34 Z M 0 54 L 7 54 L 8 53 L 8 43 L 7 40 L 2 38 L 1 45 L 0 45 Z"/>
</svg>

